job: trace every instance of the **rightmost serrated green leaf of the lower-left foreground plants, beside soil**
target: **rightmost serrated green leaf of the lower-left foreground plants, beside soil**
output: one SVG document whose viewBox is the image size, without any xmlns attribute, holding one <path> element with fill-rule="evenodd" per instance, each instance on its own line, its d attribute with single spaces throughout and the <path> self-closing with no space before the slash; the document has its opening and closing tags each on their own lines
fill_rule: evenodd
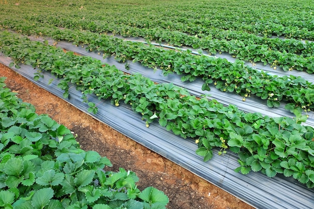
<svg viewBox="0 0 314 209">
<path fill-rule="evenodd" d="M 149 203 L 162 203 L 167 205 L 169 202 L 168 196 L 164 194 L 164 192 L 150 186 L 145 188 L 138 197 Z"/>
</svg>

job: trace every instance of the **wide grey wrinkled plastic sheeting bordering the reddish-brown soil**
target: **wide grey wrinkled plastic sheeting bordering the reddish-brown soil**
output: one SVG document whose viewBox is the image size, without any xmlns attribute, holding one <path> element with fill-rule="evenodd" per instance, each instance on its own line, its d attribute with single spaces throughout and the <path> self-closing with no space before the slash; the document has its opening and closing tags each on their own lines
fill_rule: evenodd
<svg viewBox="0 0 314 209">
<path fill-rule="evenodd" d="M 11 60 L 0 56 L 0 62 L 9 66 Z M 21 65 L 20 69 L 13 68 L 13 70 L 64 99 L 63 91 L 57 87 L 58 79 L 50 73 L 44 72 L 44 78 L 34 81 L 34 73 L 37 71 L 31 66 Z M 48 85 L 50 79 L 54 80 Z M 219 150 L 216 148 L 213 150 L 213 158 L 204 162 L 203 158 L 195 153 L 197 144 L 193 140 L 176 136 L 157 122 L 146 128 L 141 115 L 134 113 L 128 105 L 120 104 L 116 107 L 108 100 L 99 101 L 96 96 L 90 95 L 89 101 L 99 104 L 97 114 L 91 114 L 87 112 L 88 105 L 82 102 L 81 96 L 80 91 L 70 88 L 69 98 L 64 100 L 256 208 L 309 209 L 314 207 L 314 190 L 306 188 L 295 179 L 282 175 L 268 178 L 260 172 L 250 172 L 247 175 L 236 173 L 234 169 L 239 166 L 237 155 L 227 152 L 219 156 L 217 154 Z"/>
</svg>

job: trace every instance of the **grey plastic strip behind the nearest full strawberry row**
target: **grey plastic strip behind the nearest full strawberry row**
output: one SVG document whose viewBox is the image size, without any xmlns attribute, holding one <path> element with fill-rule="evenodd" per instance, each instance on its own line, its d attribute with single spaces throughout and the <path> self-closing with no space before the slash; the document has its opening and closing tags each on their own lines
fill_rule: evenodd
<svg viewBox="0 0 314 209">
<path fill-rule="evenodd" d="M 53 43 L 52 40 L 49 41 L 50 44 Z M 95 59 L 101 60 L 104 63 L 107 63 L 109 65 L 116 66 L 119 70 L 126 72 L 126 73 L 140 73 L 143 76 L 150 78 L 154 82 L 158 83 L 173 83 L 177 86 L 184 87 L 190 91 L 192 95 L 202 97 L 202 95 L 209 95 L 207 96 L 208 99 L 216 99 L 218 102 L 224 104 L 224 105 L 236 105 L 240 110 L 243 110 L 244 112 L 260 112 L 263 115 L 267 115 L 269 117 L 281 117 L 281 116 L 287 116 L 287 117 L 294 117 L 293 113 L 286 110 L 284 106 L 286 103 L 284 101 L 280 101 L 280 107 L 278 108 L 270 108 L 267 106 L 267 100 L 262 100 L 254 95 L 251 97 L 247 97 L 246 101 L 242 101 L 242 96 L 237 95 L 233 92 L 221 92 L 219 89 L 216 89 L 214 84 L 210 85 L 211 90 L 210 91 L 203 91 L 202 85 L 204 84 L 204 81 L 202 79 L 196 79 L 193 82 L 183 82 L 181 81 L 181 76 L 177 74 L 169 74 L 167 76 L 163 75 L 162 70 L 156 70 L 153 71 L 152 69 L 149 69 L 147 67 L 143 67 L 140 63 L 135 62 L 128 62 L 128 70 L 125 69 L 125 63 L 119 63 L 117 62 L 113 57 L 103 58 L 102 55 L 98 55 L 96 52 L 89 52 L 86 51 L 85 48 L 82 47 L 76 47 L 72 45 L 69 42 L 58 42 L 57 46 L 64 48 L 69 51 L 76 52 L 80 55 L 84 56 L 90 56 Z M 302 72 L 299 72 L 302 73 Z M 304 73 L 304 72 L 303 72 Z M 305 76 L 305 75 L 304 75 Z M 307 74 L 307 78 L 314 78 L 314 75 Z M 309 125 L 314 127 L 314 112 L 308 112 L 308 119 L 304 125 Z"/>
</svg>

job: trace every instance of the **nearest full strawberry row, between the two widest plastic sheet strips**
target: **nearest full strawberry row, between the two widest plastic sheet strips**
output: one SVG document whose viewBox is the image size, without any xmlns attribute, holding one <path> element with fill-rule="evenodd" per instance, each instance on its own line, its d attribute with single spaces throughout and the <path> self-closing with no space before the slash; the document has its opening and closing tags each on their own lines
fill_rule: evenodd
<svg viewBox="0 0 314 209">
<path fill-rule="evenodd" d="M 11 34 L 11 38 L 17 38 Z M 23 48 L 21 45 L 23 44 Z M 8 50 L 8 51 L 7 51 Z M 239 154 L 240 167 L 236 171 L 261 171 L 269 177 L 277 173 L 292 176 L 314 186 L 314 128 L 302 126 L 306 121 L 295 111 L 295 118 L 270 118 L 260 113 L 244 113 L 235 106 L 223 106 L 215 100 L 198 99 L 187 90 L 173 84 L 154 84 L 139 74 L 127 75 L 90 57 L 64 53 L 62 49 L 16 39 L 16 44 L 2 47 L 2 51 L 16 62 L 51 71 L 62 80 L 58 86 L 68 96 L 69 83 L 84 94 L 131 105 L 142 115 L 146 126 L 154 119 L 183 138 L 193 138 L 199 148 L 196 153 L 211 159 L 213 147 Z M 40 73 L 36 76 L 40 78 Z M 97 104 L 88 103 L 96 113 Z"/>
</svg>

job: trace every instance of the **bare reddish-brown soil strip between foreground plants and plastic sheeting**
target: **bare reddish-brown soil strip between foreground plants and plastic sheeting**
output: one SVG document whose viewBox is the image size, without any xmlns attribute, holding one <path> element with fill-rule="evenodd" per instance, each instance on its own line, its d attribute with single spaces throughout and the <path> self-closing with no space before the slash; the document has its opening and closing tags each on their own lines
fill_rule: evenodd
<svg viewBox="0 0 314 209">
<path fill-rule="evenodd" d="M 164 191 L 170 199 L 168 208 L 253 208 L 84 114 L 2 64 L 0 64 L 0 77 L 7 77 L 7 86 L 17 92 L 18 97 L 23 101 L 33 104 L 38 114 L 48 114 L 77 134 L 77 140 L 83 149 L 94 150 L 102 156 L 107 156 L 113 164 L 113 167 L 108 169 L 117 171 L 119 167 L 123 167 L 132 170 L 139 177 L 139 189 L 154 186 Z"/>
</svg>

